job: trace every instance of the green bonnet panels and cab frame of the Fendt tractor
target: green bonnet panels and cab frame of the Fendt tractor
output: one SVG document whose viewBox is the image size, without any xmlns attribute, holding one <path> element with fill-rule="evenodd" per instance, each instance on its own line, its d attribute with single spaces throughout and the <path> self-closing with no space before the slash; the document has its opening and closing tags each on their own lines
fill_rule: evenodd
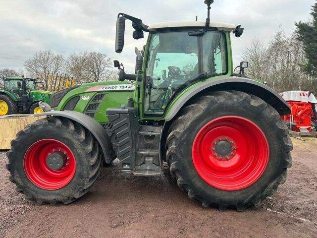
<svg viewBox="0 0 317 238">
<path fill-rule="evenodd" d="M 229 31 L 218 31 L 221 32 L 225 36 L 225 46 L 226 46 L 226 58 L 227 58 L 227 71 L 225 74 L 219 76 L 209 77 L 203 80 L 200 80 L 194 84 L 191 84 L 187 88 L 185 88 L 182 92 L 180 92 L 171 102 L 169 102 L 164 109 L 164 113 L 162 115 L 156 116 L 144 116 L 144 106 L 145 102 L 144 92 L 146 89 L 145 83 L 145 74 L 147 67 L 147 59 L 149 58 L 149 46 L 151 41 L 151 36 L 154 33 L 149 34 L 148 42 L 145 48 L 145 55 L 143 60 L 142 70 L 138 70 L 137 75 L 142 75 L 142 82 L 133 81 L 133 83 L 125 80 L 121 81 L 103 81 L 96 83 L 86 83 L 82 84 L 77 88 L 72 89 L 67 94 L 63 96 L 61 101 L 58 103 L 58 106 L 54 108 L 54 110 L 64 110 L 67 103 L 74 99 L 75 97 L 79 97 L 77 104 L 74 106 L 72 110 L 84 113 L 94 119 L 96 119 L 99 123 L 109 122 L 106 117 L 106 109 L 113 107 L 120 107 L 120 105 L 127 105 L 128 98 L 134 99 L 134 107 L 139 110 L 139 119 L 142 120 L 164 120 L 168 112 L 171 110 L 174 103 L 188 90 L 198 86 L 201 83 L 206 81 L 219 79 L 219 78 L 227 78 L 232 76 L 233 74 L 233 62 L 232 62 L 232 51 L 231 51 L 231 43 L 230 43 L 230 32 Z M 121 85 L 131 85 L 131 88 L 122 88 Z M 116 88 L 109 89 L 106 86 L 112 86 Z M 101 101 L 94 100 L 94 97 L 99 94 L 105 94 L 105 97 Z M 96 104 L 96 107 L 92 107 L 92 104 Z M 93 108 L 94 110 L 88 110 Z M 69 110 L 69 109 L 67 109 Z"/>
</svg>

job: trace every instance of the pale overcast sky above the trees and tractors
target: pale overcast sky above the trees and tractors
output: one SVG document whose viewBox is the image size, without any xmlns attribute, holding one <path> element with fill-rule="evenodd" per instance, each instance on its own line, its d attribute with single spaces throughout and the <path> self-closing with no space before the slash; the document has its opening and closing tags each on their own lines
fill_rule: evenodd
<svg viewBox="0 0 317 238">
<path fill-rule="evenodd" d="M 315 0 L 214 0 L 211 21 L 240 24 L 240 38 L 231 36 L 235 64 L 253 38 L 268 42 L 279 25 L 291 33 L 295 21 L 310 18 Z M 65 57 L 97 51 L 134 70 L 134 40 L 126 25 L 125 46 L 114 51 L 117 14 L 124 12 L 150 25 L 160 21 L 205 20 L 204 0 L 0 0 L 0 68 L 23 70 L 24 60 L 36 51 L 52 50 Z"/>
</svg>

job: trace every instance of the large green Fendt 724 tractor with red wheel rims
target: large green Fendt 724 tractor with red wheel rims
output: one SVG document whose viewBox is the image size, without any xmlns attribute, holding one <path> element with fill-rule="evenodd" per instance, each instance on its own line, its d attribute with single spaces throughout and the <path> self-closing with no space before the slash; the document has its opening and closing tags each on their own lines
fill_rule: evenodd
<svg viewBox="0 0 317 238">
<path fill-rule="evenodd" d="M 287 103 L 268 86 L 234 74 L 231 32 L 210 21 L 161 22 L 119 13 L 115 51 L 125 21 L 134 39 L 136 72 L 114 61 L 118 81 L 67 88 L 51 97 L 56 111 L 18 132 L 6 168 L 17 191 L 39 204 L 68 204 L 83 196 L 103 164 L 119 159 L 124 172 L 171 176 L 205 207 L 242 211 L 259 205 L 286 179 L 292 142 L 281 115 Z M 85 106 L 84 106 L 85 105 Z M 79 111 L 79 112 L 76 112 Z M 80 113 L 83 112 L 83 113 Z M 106 184 L 105 184 L 106 185 Z"/>
</svg>

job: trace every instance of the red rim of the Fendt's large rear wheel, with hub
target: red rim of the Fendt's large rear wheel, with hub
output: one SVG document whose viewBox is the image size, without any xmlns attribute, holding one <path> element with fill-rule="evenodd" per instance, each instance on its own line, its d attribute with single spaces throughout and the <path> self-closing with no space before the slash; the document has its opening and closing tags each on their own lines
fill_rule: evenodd
<svg viewBox="0 0 317 238">
<path fill-rule="evenodd" d="M 213 119 L 197 133 L 192 160 L 199 176 L 212 187 L 246 188 L 263 175 L 268 142 L 254 122 L 237 116 Z"/>
</svg>

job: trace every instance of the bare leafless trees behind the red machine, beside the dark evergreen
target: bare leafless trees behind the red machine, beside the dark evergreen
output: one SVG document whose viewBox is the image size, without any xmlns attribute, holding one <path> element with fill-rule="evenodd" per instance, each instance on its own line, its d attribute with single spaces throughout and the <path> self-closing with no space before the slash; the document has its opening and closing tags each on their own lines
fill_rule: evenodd
<svg viewBox="0 0 317 238">
<path fill-rule="evenodd" d="M 253 40 L 243 59 L 249 61 L 248 76 L 257 78 L 262 71 L 263 79 L 278 92 L 307 90 L 316 93 L 317 79 L 302 71 L 306 58 L 303 44 L 295 33 L 286 36 L 279 29 L 267 45 Z"/>
</svg>

